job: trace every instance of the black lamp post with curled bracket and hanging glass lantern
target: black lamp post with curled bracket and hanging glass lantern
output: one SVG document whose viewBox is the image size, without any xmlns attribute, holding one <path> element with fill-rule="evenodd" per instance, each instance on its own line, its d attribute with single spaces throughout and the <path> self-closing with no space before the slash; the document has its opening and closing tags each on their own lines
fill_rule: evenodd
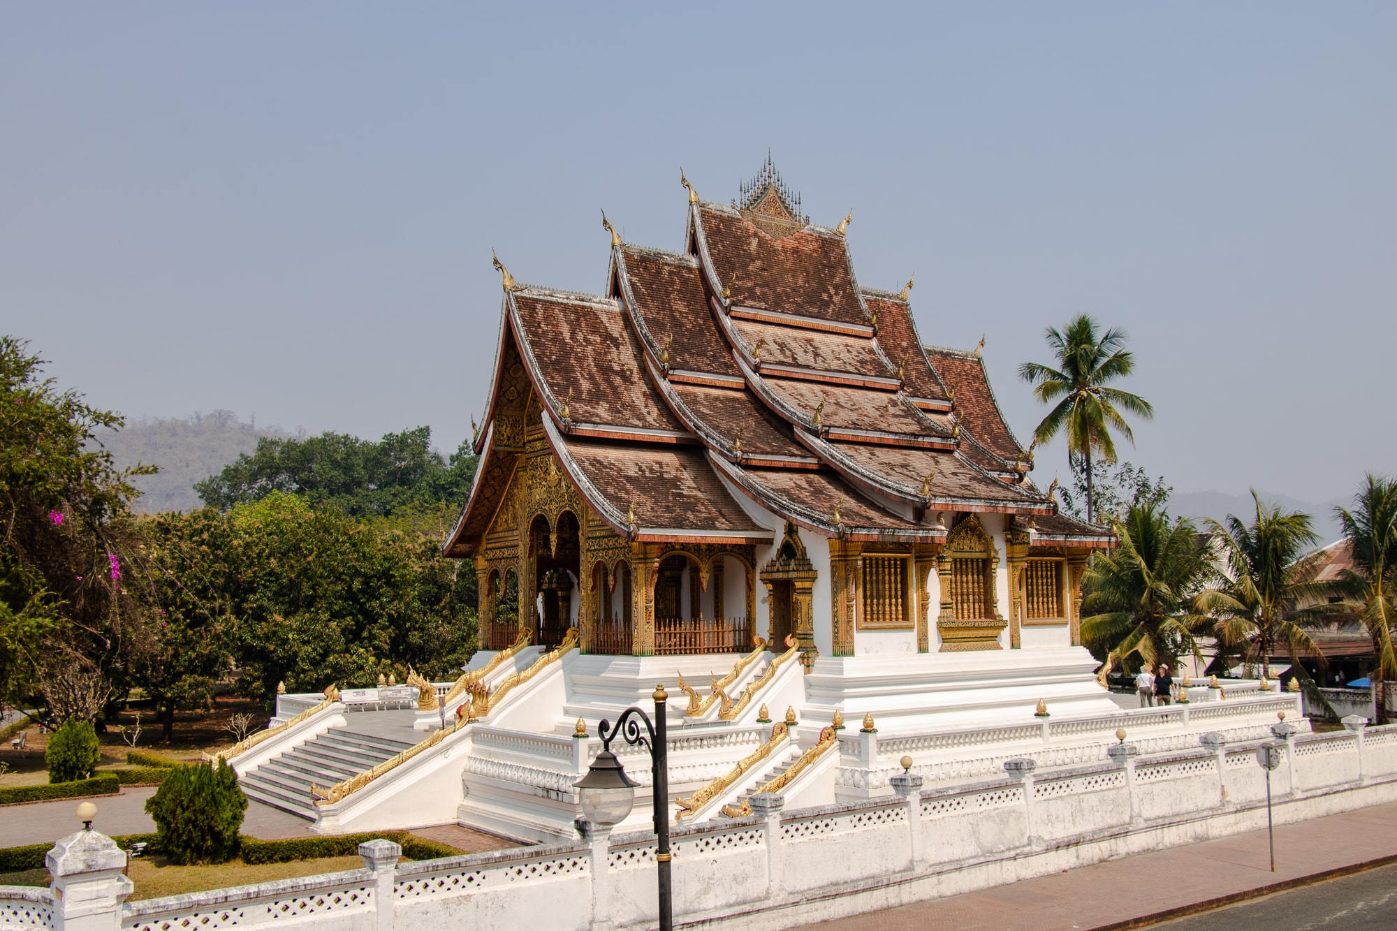
<svg viewBox="0 0 1397 931">
<path fill-rule="evenodd" d="M 573 783 L 578 790 L 583 814 L 587 819 L 601 828 L 613 828 L 626 821 L 631 807 L 636 804 L 636 786 L 620 760 L 610 752 L 610 742 L 617 734 L 626 738 L 627 744 L 640 744 L 650 751 L 650 772 L 654 786 L 652 807 L 655 809 L 655 860 L 659 864 L 659 931 L 673 928 L 673 906 L 669 892 L 669 760 L 668 742 L 665 739 L 665 702 L 669 695 L 664 684 L 655 686 L 655 720 L 638 707 L 627 707 L 616 719 L 616 727 L 604 720 L 597 734 L 602 738 L 602 752 L 597 755 L 587 774 Z M 641 724 L 645 730 L 641 731 Z M 592 878 L 599 882 L 599 876 Z"/>
</svg>

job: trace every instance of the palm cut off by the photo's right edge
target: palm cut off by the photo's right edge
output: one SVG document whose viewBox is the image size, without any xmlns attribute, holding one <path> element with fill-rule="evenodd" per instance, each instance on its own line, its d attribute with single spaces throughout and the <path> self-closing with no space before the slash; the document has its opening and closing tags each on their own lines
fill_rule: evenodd
<svg viewBox="0 0 1397 931">
<path fill-rule="evenodd" d="M 1368 474 L 1354 495 L 1354 510 L 1336 507 L 1334 514 L 1348 541 L 1352 569 L 1344 570 L 1340 584 L 1347 608 L 1358 612 L 1373 639 L 1377 670 L 1372 677 L 1373 702 L 1383 717 L 1383 681 L 1397 677 L 1393 653 L 1393 619 L 1397 616 L 1397 482 Z"/>
</svg>

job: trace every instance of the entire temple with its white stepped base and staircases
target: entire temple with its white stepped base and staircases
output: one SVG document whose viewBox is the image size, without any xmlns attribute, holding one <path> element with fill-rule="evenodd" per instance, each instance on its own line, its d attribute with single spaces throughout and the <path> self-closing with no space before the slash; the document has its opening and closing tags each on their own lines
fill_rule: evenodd
<svg viewBox="0 0 1397 931">
<path fill-rule="evenodd" d="M 680 252 L 604 214 L 604 295 L 496 259 L 481 463 L 443 544 L 478 575 L 482 649 L 454 682 L 279 696 L 222 753 L 250 797 L 323 833 L 570 837 L 601 721 L 657 684 L 671 797 L 613 744 L 640 783 L 626 829 L 654 802 L 682 825 L 854 804 L 904 770 L 983 780 L 1104 760 L 1120 728 L 1165 752 L 1298 712 L 1267 682 L 1123 710 L 1080 630 L 1115 541 L 1030 479 L 983 340 L 923 344 L 912 281 L 861 285 L 852 217 L 812 222 L 770 161 L 731 204 L 682 180 Z"/>
</svg>

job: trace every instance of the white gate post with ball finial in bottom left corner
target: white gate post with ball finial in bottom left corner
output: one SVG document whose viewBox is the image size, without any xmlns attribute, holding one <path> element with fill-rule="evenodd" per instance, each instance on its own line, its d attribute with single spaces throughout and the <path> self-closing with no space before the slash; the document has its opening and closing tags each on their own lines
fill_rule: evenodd
<svg viewBox="0 0 1397 931">
<path fill-rule="evenodd" d="M 43 863 L 53 876 L 54 931 L 120 931 L 133 886 L 115 840 L 88 828 L 53 844 Z"/>
</svg>

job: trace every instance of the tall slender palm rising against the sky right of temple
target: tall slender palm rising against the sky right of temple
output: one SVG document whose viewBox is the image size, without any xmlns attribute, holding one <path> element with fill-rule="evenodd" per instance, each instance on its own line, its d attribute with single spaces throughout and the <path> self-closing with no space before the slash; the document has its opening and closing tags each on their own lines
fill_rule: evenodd
<svg viewBox="0 0 1397 931">
<path fill-rule="evenodd" d="M 1144 419 L 1154 417 L 1154 408 L 1139 394 L 1106 387 L 1108 382 L 1134 370 L 1134 355 L 1125 348 L 1123 330 L 1111 329 L 1097 335 L 1097 322 L 1084 313 L 1070 320 L 1066 331 L 1048 327 L 1048 347 L 1056 356 L 1056 368 L 1038 362 L 1018 366 L 1018 377 L 1034 386 L 1034 396 L 1039 401 L 1058 401 L 1034 431 L 1034 442 L 1046 443 L 1058 433 L 1067 433 L 1069 461 L 1077 457 L 1085 467 L 1088 524 L 1095 523 L 1092 450 L 1098 450 L 1105 461 L 1115 463 L 1116 445 L 1111 429 L 1115 428 L 1134 443 L 1134 433 L 1120 411 Z"/>
</svg>

